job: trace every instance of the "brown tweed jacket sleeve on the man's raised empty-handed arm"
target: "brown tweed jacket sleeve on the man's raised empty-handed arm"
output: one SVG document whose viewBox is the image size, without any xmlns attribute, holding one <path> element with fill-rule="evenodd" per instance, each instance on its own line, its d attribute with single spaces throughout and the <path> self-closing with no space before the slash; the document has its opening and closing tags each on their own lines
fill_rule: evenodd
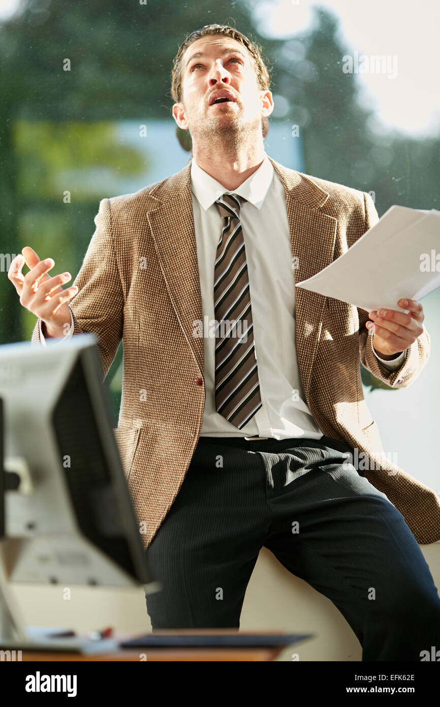
<svg viewBox="0 0 440 707">
<path fill-rule="evenodd" d="M 73 336 L 95 334 L 104 380 L 117 354 L 124 330 L 124 293 L 112 233 L 109 199 L 102 199 L 95 216 L 95 233 L 83 264 L 72 283 L 78 293 L 69 301 Z M 40 319 L 32 332 L 32 344 L 42 344 Z"/>
</svg>

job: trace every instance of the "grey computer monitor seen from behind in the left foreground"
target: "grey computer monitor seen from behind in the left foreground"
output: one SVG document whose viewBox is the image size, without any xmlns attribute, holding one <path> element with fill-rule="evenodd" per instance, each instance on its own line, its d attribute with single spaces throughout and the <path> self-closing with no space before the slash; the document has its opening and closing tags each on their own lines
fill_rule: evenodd
<svg viewBox="0 0 440 707">
<path fill-rule="evenodd" d="M 0 402 L 0 644 L 21 648 L 36 634 L 21 624 L 8 581 L 143 585 L 145 594 L 160 587 L 114 438 L 95 335 L 0 346 Z"/>
</svg>

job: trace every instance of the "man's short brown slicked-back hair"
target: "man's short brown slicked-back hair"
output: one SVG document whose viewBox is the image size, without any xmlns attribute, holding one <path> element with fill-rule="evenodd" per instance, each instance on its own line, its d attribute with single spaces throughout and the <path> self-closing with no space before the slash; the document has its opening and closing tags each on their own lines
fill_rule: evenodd
<svg viewBox="0 0 440 707">
<path fill-rule="evenodd" d="M 232 40 L 236 40 L 246 47 L 249 54 L 251 54 L 258 86 L 261 90 L 269 90 L 269 70 L 261 55 L 261 47 L 259 47 L 256 42 L 251 42 L 246 35 L 242 34 L 233 27 L 230 27 L 229 25 L 205 25 L 200 30 L 191 32 L 191 34 L 186 37 L 174 57 L 171 72 L 171 95 L 174 103 L 182 103 L 182 57 L 184 52 L 186 52 L 186 49 L 193 42 L 199 40 L 201 37 L 206 37 L 207 35 L 223 35 L 224 37 L 230 37 Z M 261 118 L 261 129 L 263 131 L 263 138 L 265 138 L 269 129 L 269 122 L 266 117 Z"/>
</svg>

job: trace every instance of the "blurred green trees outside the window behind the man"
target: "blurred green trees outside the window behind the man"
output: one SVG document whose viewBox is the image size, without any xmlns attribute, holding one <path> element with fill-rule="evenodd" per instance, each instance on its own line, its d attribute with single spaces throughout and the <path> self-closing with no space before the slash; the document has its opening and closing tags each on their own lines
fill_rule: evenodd
<svg viewBox="0 0 440 707">
<path fill-rule="evenodd" d="M 136 175 L 145 165 L 145 153 L 118 136 L 117 122 L 172 120 L 172 59 L 186 35 L 208 23 L 235 25 L 263 46 L 275 102 L 278 95 L 285 105 L 278 119 L 299 125 L 307 174 L 373 191 L 379 215 L 392 204 L 435 207 L 439 138 L 381 129 L 359 100 L 359 76 L 342 71 L 350 52 L 340 40 L 339 18 L 315 7 L 311 28 L 268 40 L 254 23 L 256 5 L 23 1 L 0 28 L 1 251 L 16 254 L 32 245 L 40 257 L 54 258 L 53 274 L 69 270 L 75 276 L 98 200 L 111 195 L 107 180 Z M 70 71 L 63 69 L 66 59 Z M 189 134 L 176 134 L 176 146 L 190 149 Z M 74 195 L 69 208 L 62 201 L 65 189 Z M 0 342 L 28 339 L 34 325 L 5 275 Z M 120 351 L 109 380 L 119 362 Z M 361 370 L 366 385 L 381 387 Z"/>
</svg>

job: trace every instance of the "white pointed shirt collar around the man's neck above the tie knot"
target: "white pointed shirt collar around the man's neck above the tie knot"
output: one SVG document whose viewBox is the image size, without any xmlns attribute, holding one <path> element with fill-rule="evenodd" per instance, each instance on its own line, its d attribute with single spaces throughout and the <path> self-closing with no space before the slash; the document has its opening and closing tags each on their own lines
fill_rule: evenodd
<svg viewBox="0 0 440 707">
<path fill-rule="evenodd" d="M 202 170 L 193 157 L 191 160 L 191 191 L 205 211 L 222 194 L 239 194 L 240 197 L 254 204 L 257 209 L 261 209 L 273 179 L 273 172 L 273 165 L 265 153 L 258 170 L 251 174 L 237 189 L 228 191 L 222 187 L 220 182 Z"/>
</svg>

